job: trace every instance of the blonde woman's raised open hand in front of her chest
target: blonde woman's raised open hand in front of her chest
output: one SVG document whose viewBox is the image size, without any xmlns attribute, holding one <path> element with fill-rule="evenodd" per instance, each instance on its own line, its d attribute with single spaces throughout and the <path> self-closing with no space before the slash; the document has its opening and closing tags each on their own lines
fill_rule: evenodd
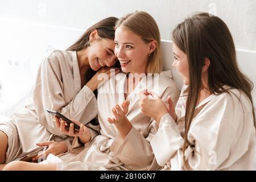
<svg viewBox="0 0 256 182">
<path fill-rule="evenodd" d="M 119 134 L 123 139 L 125 139 L 126 135 L 129 133 L 131 128 L 133 127 L 130 121 L 126 118 L 126 114 L 128 113 L 130 102 L 123 101 L 122 107 L 116 105 L 112 108 L 112 113 L 114 118 L 108 118 L 109 123 L 114 123 L 115 127 L 117 128 Z"/>
</svg>

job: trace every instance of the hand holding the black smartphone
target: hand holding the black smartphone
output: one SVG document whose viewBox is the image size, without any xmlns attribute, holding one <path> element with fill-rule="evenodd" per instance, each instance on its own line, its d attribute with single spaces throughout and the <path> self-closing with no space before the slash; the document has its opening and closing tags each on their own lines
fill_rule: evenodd
<svg viewBox="0 0 256 182">
<path fill-rule="evenodd" d="M 71 123 L 70 126 L 68 127 L 67 123 L 60 118 L 55 117 L 56 121 L 56 126 L 60 128 L 60 131 L 66 135 L 69 135 L 70 137 L 79 137 L 80 141 L 82 143 L 87 143 L 90 141 L 90 131 L 88 127 L 84 126 L 82 123 L 79 121 L 76 121 L 74 119 L 71 119 L 76 125 L 80 126 L 80 130 L 76 131 L 74 130 L 74 124 Z"/>
</svg>

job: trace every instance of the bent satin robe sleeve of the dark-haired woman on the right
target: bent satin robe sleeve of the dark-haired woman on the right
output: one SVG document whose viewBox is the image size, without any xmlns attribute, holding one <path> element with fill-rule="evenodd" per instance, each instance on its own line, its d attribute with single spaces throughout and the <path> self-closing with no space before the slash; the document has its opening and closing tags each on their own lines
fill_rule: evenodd
<svg viewBox="0 0 256 182">
<path fill-rule="evenodd" d="M 170 114 L 161 118 L 150 142 L 160 166 L 170 163 L 171 170 L 216 170 L 229 157 L 236 136 L 230 113 L 234 107 L 225 98 L 211 107 L 204 116 L 193 119 L 188 133 L 193 144 L 185 148 L 187 166 L 183 162 L 184 139 L 177 124 Z"/>
</svg>

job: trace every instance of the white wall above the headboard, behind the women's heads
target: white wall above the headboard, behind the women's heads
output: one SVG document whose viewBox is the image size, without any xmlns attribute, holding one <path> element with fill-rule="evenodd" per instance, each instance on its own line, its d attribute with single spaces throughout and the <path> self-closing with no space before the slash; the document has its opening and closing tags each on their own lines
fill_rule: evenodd
<svg viewBox="0 0 256 182">
<path fill-rule="evenodd" d="M 177 23 L 195 11 L 207 11 L 230 27 L 237 48 L 256 50 L 255 0 L 1 0 L 0 18 L 28 20 L 86 29 L 106 16 L 120 17 L 135 10 L 150 13 L 162 39 L 170 39 Z"/>
</svg>

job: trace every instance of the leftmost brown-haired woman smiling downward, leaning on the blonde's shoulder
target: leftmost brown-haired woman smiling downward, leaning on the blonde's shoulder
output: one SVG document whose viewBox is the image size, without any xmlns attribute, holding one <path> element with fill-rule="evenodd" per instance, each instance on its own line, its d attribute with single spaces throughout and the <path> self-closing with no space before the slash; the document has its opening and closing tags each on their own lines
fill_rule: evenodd
<svg viewBox="0 0 256 182">
<path fill-rule="evenodd" d="M 59 111 L 83 124 L 96 117 L 97 101 L 93 92 L 102 82 L 97 77 L 105 73 L 109 78 L 108 67 L 113 67 L 117 59 L 114 55 L 117 20 L 114 17 L 101 20 L 67 51 L 55 50 L 46 56 L 38 70 L 32 102 L 23 111 L 12 114 L 9 121 L 0 122 L 0 164 L 36 155 L 45 146 L 49 147 L 46 155 L 51 151 L 55 155 L 67 151 L 73 138 L 60 132 L 54 116 L 46 109 Z"/>
</svg>

